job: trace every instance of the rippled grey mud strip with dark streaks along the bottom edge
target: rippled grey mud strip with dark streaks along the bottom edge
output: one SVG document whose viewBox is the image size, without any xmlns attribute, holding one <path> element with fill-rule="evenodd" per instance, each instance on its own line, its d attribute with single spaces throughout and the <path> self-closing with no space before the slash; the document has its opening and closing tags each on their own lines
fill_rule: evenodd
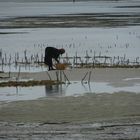
<svg viewBox="0 0 140 140">
<path fill-rule="evenodd" d="M 41 124 L 0 123 L 0 138 L 7 139 L 50 139 L 50 140 L 134 140 L 140 137 L 140 123 L 129 120 L 123 123 L 91 124 Z"/>
</svg>

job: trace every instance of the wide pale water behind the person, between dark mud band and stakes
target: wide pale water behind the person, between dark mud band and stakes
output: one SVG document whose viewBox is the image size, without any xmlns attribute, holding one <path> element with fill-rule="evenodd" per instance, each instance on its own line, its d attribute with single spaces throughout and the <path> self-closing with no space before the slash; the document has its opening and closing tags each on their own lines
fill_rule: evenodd
<svg viewBox="0 0 140 140">
<path fill-rule="evenodd" d="M 0 35 L 0 47 L 2 48 L 3 58 L 7 56 L 15 60 L 15 54 L 18 52 L 19 61 L 25 60 L 26 55 L 29 60 L 31 56 L 38 55 L 40 61 L 44 57 L 44 50 L 47 46 L 55 46 L 57 48 L 65 48 L 66 54 L 63 56 L 79 56 L 85 62 L 85 56 L 91 57 L 93 61 L 94 55 L 109 56 L 116 58 L 129 59 L 135 62 L 136 58 L 139 62 L 140 52 L 140 26 L 125 28 L 43 28 L 43 29 L 3 29 L 4 32 L 27 32 L 23 34 L 5 34 Z M 5 59 L 4 59 L 5 60 Z M 70 60 L 73 63 L 73 59 Z M 79 60 L 78 60 L 79 61 Z M 103 60 L 99 60 L 104 62 Z M 118 59 L 116 59 L 117 63 Z M 62 61 L 61 61 L 62 62 Z M 80 61 L 79 61 L 80 62 Z M 110 61 L 108 61 L 110 63 Z M 15 64 L 3 67 L 3 71 L 17 71 L 19 66 Z M 43 67 L 42 67 L 43 68 Z M 43 71 L 39 67 L 21 67 L 21 71 Z M 46 70 L 46 69 L 45 69 Z"/>
</svg>

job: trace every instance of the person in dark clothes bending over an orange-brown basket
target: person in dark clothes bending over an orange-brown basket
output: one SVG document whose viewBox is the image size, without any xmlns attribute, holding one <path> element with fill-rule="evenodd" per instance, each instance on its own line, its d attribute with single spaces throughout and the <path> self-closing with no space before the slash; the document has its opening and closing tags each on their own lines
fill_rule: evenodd
<svg viewBox="0 0 140 140">
<path fill-rule="evenodd" d="M 49 70 L 54 70 L 53 69 L 53 63 L 52 59 L 55 59 L 57 63 L 59 63 L 59 56 L 65 53 L 65 50 L 63 48 L 57 49 L 54 47 L 46 47 L 45 48 L 45 59 L 44 63 L 48 65 Z"/>
</svg>

